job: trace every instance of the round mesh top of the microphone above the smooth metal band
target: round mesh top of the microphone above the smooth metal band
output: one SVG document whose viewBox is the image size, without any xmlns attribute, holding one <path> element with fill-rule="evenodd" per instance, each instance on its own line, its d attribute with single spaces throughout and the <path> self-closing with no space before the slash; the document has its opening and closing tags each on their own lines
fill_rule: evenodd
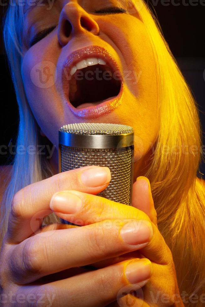
<svg viewBox="0 0 205 307">
<path fill-rule="evenodd" d="M 134 132 L 132 127 L 120 124 L 108 123 L 76 123 L 65 125 L 60 128 L 65 133 L 87 135 L 118 135 Z"/>
</svg>

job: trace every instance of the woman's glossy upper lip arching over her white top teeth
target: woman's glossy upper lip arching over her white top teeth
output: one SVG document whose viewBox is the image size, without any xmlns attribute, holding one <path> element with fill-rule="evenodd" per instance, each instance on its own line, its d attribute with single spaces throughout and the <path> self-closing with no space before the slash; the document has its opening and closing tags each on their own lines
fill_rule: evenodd
<svg viewBox="0 0 205 307">
<path fill-rule="evenodd" d="M 78 49 L 72 52 L 70 55 L 68 55 L 63 64 L 62 85 L 63 85 L 64 95 L 69 103 L 70 103 L 69 101 L 69 80 L 70 80 L 71 68 L 74 65 L 76 65 L 79 61 L 86 60 L 87 58 L 91 58 L 91 57 L 103 59 L 113 71 L 118 71 L 118 78 L 121 80 L 121 82 L 123 80 L 122 73 L 119 69 L 119 66 L 116 60 L 114 59 L 113 55 L 111 55 L 105 48 L 101 46 L 88 46 L 82 49 Z"/>
</svg>

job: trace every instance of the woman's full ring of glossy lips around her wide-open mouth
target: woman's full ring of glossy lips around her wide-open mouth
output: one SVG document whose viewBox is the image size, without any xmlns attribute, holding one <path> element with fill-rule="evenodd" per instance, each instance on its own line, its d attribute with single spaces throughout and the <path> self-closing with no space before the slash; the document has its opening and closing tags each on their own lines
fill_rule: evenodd
<svg viewBox="0 0 205 307">
<path fill-rule="evenodd" d="M 67 80 L 66 75 L 70 76 L 71 68 L 79 61 L 85 60 L 90 57 L 101 58 L 106 64 L 112 68 L 113 71 L 119 72 L 119 79 L 121 81 L 121 88 L 118 96 L 108 99 L 107 101 L 101 102 L 96 106 L 85 107 L 82 109 L 77 109 L 72 106 L 69 101 L 69 80 Z M 66 74 L 65 74 L 66 71 Z M 103 47 L 100 46 L 88 46 L 79 50 L 72 52 L 65 60 L 62 70 L 62 84 L 64 96 L 66 98 L 67 105 L 71 112 L 79 118 L 90 119 L 97 118 L 101 115 L 113 112 L 122 103 L 123 98 L 123 78 L 122 72 L 120 71 L 118 64 L 116 63 L 114 57 Z"/>
</svg>

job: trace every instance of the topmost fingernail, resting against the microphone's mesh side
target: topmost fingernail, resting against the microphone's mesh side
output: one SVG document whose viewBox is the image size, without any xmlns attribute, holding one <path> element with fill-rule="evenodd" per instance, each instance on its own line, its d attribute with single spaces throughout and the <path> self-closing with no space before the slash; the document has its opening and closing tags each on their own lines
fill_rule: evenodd
<svg viewBox="0 0 205 307">
<path fill-rule="evenodd" d="M 108 167 L 93 167 L 82 171 L 81 181 L 89 187 L 105 185 L 111 180 L 111 174 Z"/>
</svg>

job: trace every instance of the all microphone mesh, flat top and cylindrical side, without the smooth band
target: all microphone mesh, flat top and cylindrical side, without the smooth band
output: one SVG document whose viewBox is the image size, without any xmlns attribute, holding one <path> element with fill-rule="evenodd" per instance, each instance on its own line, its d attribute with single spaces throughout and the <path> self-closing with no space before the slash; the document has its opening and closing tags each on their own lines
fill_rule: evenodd
<svg viewBox="0 0 205 307">
<path fill-rule="evenodd" d="M 107 123 L 70 124 L 61 127 L 60 131 L 85 135 L 120 135 L 134 132 L 132 127 Z M 134 146 L 91 149 L 59 144 L 59 147 L 61 172 L 87 165 L 107 166 L 111 172 L 111 181 L 108 187 L 97 195 L 125 205 L 130 204 Z"/>
</svg>

